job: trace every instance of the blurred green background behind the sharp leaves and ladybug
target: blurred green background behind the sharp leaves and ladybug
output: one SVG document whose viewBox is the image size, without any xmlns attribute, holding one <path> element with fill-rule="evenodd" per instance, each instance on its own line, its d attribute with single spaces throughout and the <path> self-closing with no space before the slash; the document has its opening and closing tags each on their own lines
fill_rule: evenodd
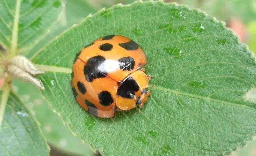
<svg viewBox="0 0 256 156">
<path fill-rule="evenodd" d="M 135 0 L 66 0 L 65 12 L 60 20 L 50 29 L 50 33 L 41 40 L 36 47 L 24 52 L 31 57 L 54 37 L 60 35 L 70 26 L 84 20 L 90 13 L 94 14 L 103 7 L 109 8 L 117 3 L 130 4 Z M 227 26 L 240 36 L 240 41 L 247 44 L 251 51 L 256 52 L 256 0 L 165 0 L 186 4 L 192 8 L 199 8 L 207 14 L 225 21 Z M 27 90 L 20 89 L 26 87 Z M 16 90 L 23 100 L 27 102 L 36 118 L 41 123 L 42 131 L 51 146 L 51 156 L 94 156 L 95 153 L 87 143 L 83 143 L 74 136 L 69 128 L 63 125 L 60 117 L 44 100 L 40 92 L 28 83 L 18 80 L 14 83 Z M 256 156 L 256 140 L 249 141 L 247 146 L 232 156 Z"/>
</svg>

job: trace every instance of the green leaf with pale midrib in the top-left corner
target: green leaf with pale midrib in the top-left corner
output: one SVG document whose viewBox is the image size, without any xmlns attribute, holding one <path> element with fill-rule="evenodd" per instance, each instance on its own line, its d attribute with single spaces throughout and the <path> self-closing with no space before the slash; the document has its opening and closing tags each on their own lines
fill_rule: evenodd
<svg viewBox="0 0 256 156">
<path fill-rule="evenodd" d="M 33 47 L 57 21 L 60 0 L 0 0 L 0 42 L 12 50 Z"/>
</svg>

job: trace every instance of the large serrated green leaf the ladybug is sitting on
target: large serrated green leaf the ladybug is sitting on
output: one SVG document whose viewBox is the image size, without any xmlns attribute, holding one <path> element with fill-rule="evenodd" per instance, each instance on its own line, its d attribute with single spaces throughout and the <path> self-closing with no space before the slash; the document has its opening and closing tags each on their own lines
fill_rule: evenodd
<svg viewBox="0 0 256 156">
<path fill-rule="evenodd" d="M 148 57 L 155 85 L 148 102 L 94 117 L 74 100 L 71 65 L 93 40 L 121 34 Z M 162 1 L 116 5 L 70 28 L 32 61 L 48 71 L 42 91 L 63 121 L 103 156 L 220 156 L 255 135 L 256 105 L 244 100 L 255 86 L 255 58 L 223 22 L 187 6 Z"/>
</svg>

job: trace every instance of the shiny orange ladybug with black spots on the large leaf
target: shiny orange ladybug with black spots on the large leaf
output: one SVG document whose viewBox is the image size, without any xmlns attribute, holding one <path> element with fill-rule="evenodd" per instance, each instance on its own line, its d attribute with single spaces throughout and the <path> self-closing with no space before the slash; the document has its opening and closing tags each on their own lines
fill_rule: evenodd
<svg viewBox="0 0 256 156">
<path fill-rule="evenodd" d="M 121 35 L 101 37 L 76 54 L 71 86 L 78 104 L 92 115 L 109 118 L 147 102 L 152 77 L 142 68 L 147 57 L 140 46 Z"/>
</svg>

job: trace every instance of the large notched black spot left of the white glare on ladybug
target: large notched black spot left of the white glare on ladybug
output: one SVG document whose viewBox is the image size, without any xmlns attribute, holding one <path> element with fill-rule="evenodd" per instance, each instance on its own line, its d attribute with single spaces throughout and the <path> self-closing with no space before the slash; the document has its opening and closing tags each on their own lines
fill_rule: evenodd
<svg viewBox="0 0 256 156">
<path fill-rule="evenodd" d="M 105 78 L 107 72 L 97 70 L 98 66 L 103 63 L 106 59 L 103 56 L 94 56 L 87 61 L 84 66 L 84 76 L 86 81 L 92 82 L 95 78 Z"/>
</svg>

